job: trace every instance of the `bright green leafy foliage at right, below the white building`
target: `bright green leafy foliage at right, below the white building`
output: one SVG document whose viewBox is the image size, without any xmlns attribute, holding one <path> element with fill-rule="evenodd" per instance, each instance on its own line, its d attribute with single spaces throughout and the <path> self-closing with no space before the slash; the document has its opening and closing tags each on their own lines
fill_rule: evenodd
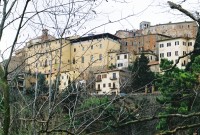
<svg viewBox="0 0 200 135">
<path fill-rule="evenodd" d="M 161 97 L 157 101 L 164 106 L 161 115 L 167 114 L 188 114 L 193 110 L 193 101 L 197 86 L 199 85 L 200 56 L 198 56 L 192 64 L 192 72 L 173 68 L 166 70 L 163 75 L 156 81 L 156 86 L 161 92 Z M 161 69 L 169 69 L 172 67 L 172 62 L 167 60 L 161 61 Z M 180 122 L 179 118 L 163 118 L 160 119 L 157 129 L 172 130 L 174 127 L 181 124 L 191 123 L 191 120 Z M 194 122 L 194 121 L 193 121 Z"/>
</svg>

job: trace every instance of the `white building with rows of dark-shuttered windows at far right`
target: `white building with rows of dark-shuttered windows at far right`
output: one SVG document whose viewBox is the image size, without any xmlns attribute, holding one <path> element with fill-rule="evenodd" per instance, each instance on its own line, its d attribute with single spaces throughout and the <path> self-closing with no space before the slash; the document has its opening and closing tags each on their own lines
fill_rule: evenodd
<svg viewBox="0 0 200 135">
<path fill-rule="evenodd" d="M 159 63 L 161 59 L 168 59 L 175 64 L 178 58 L 190 53 L 194 49 L 194 38 L 172 38 L 168 40 L 158 41 L 159 44 Z M 185 69 L 186 64 L 190 61 L 190 57 L 186 56 L 179 60 L 177 67 Z"/>
</svg>

